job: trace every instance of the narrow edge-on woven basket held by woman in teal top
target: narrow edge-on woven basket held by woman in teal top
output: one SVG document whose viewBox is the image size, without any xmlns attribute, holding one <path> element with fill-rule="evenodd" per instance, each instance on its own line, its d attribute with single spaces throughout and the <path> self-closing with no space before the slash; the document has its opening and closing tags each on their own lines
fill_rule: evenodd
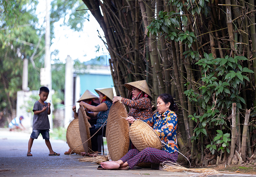
<svg viewBox="0 0 256 177">
<path fill-rule="evenodd" d="M 78 122 L 79 122 L 79 131 L 80 131 L 80 136 L 81 136 L 81 140 L 84 147 L 84 152 L 88 153 L 90 149 L 92 149 L 91 139 L 89 139 L 91 137 L 90 129 L 89 129 L 91 125 L 87 120 L 87 115 L 83 106 L 80 106 L 78 110 Z"/>
</svg>

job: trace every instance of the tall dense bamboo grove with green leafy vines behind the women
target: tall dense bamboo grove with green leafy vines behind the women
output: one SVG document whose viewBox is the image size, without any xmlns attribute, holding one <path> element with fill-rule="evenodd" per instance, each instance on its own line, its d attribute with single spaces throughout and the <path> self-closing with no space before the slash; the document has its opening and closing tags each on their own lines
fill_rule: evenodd
<svg viewBox="0 0 256 177">
<path fill-rule="evenodd" d="M 128 97 L 124 83 L 146 79 L 154 100 L 164 92 L 175 96 L 182 110 L 178 144 L 194 165 L 208 165 L 204 157 L 224 163 L 230 149 L 240 152 L 245 111 L 255 107 L 254 1 L 83 1 L 105 33 L 117 94 Z M 251 112 L 243 134 L 250 140 L 247 159 L 256 140 Z"/>
</svg>

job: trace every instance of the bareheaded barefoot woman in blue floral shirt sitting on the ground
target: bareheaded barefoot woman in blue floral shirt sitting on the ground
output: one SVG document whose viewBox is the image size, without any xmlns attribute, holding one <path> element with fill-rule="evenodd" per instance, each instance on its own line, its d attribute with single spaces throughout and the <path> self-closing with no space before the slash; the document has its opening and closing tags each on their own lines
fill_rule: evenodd
<svg viewBox="0 0 256 177">
<path fill-rule="evenodd" d="M 132 149 L 118 161 L 101 162 L 102 168 L 117 169 L 129 166 L 133 169 L 134 166 L 142 162 L 161 163 L 164 161 L 177 161 L 177 116 L 173 111 L 177 111 L 178 107 L 174 104 L 172 96 L 166 93 L 159 95 L 156 107 L 156 114 L 154 114 L 152 118 L 145 120 L 145 122 L 147 122 L 160 137 L 163 142 L 162 149 L 146 148 L 142 151 Z M 126 120 L 133 123 L 133 120 L 130 118 L 126 118 Z"/>
</svg>

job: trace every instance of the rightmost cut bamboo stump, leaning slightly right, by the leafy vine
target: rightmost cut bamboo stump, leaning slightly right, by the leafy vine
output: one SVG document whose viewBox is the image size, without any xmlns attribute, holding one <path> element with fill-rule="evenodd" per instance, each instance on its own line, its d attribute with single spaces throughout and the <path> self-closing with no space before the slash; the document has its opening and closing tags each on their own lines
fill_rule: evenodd
<svg viewBox="0 0 256 177">
<path fill-rule="evenodd" d="M 242 135 L 242 148 L 241 148 L 241 156 L 243 161 L 245 162 L 246 157 L 246 137 L 247 137 L 247 129 L 248 129 L 248 122 L 250 117 L 251 109 L 245 112 L 245 119 L 244 119 L 244 128 L 243 128 L 243 135 Z"/>
</svg>

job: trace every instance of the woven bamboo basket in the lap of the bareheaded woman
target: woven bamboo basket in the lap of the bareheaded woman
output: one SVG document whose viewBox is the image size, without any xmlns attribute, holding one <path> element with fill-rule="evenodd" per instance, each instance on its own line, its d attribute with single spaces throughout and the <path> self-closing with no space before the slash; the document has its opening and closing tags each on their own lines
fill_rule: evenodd
<svg viewBox="0 0 256 177">
<path fill-rule="evenodd" d="M 132 144 L 142 151 L 147 147 L 162 149 L 162 142 L 156 132 L 141 120 L 132 123 L 129 129 L 129 136 Z"/>
</svg>

